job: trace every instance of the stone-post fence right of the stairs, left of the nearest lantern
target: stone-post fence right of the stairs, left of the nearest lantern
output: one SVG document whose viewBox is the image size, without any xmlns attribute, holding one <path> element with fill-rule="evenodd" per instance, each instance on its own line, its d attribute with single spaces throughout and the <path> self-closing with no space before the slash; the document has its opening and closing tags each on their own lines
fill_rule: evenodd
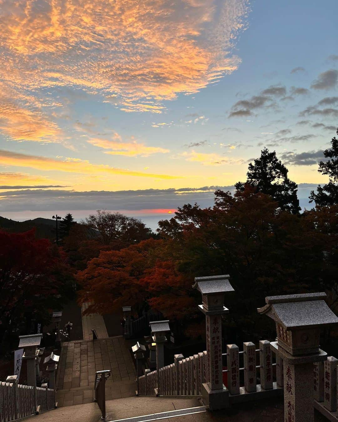
<svg viewBox="0 0 338 422">
<path fill-rule="evenodd" d="M 259 354 L 259 357 L 257 356 Z M 226 365 L 228 390 L 231 402 L 248 400 L 245 394 L 256 392 L 252 399 L 283 394 L 283 362 L 273 362 L 270 342 L 259 342 L 259 349 L 254 343 L 244 343 L 240 352 L 235 344 L 227 345 Z M 243 366 L 240 357 L 243 356 Z M 259 363 L 259 364 L 258 364 Z M 273 382 L 273 367 L 276 367 L 276 381 Z M 175 355 L 175 362 L 139 377 L 139 395 L 202 395 L 202 384 L 210 381 L 207 352 L 199 352 L 184 358 Z M 257 383 L 257 370 L 259 381 Z M 244 371 L 244 386 L 240 386 L 240 372 Z M 226 379 L 226 377 L 224 377 Z M 261 394 L 264 393 L 264 394 Z M 236 397 L 235 397 L 236 396 Z"/>
</svg>

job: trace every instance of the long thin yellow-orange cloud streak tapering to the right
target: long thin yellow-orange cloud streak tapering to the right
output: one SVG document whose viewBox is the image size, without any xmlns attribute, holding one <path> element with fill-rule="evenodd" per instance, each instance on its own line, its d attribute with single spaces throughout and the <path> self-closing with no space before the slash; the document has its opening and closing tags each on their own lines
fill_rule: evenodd
<svg viewBox="0 0 338 422">
<path fill-rule="evenodd" d="M 86 160 L 67 157 L 65 160 L 40 157 L 36 155 L 19 154 L 11 151 L 0 150 L 0 165 L 11 165 L 35 168 L 46 171 L 64 171 L 80 174 L 122 174 L 125 176 L 151 177 L 156 179 L 180 179 L 181 176 L 169 176 L 167 174 L 142 173 L 139 171 L 125 170 L 123 168 L 110 167 L 109 165 L 91 164 Z"/>
</svg>

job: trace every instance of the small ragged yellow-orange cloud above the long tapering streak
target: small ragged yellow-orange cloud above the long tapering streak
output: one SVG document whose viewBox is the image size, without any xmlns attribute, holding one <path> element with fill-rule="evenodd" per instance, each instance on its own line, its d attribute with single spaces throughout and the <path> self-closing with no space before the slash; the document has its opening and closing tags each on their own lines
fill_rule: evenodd
<svg viewBox="0 0 338 422">
<path fill-rule="evenodd" d="M 131 137 L 130 142 L 123 142 L 118 133 L 114 133 L 112 139 L 93 138 L 89 139 L 87 142 L 94 146 L 98 146 L 99 148 L 111 150 L 105 151 L 105 154 L 125 155 L 127 157 L 149 157 L 151 154 L 169 152 L 169 149 L 146 146 L 144 143 L 137 142 L 134 137 Z"/>
</svg>

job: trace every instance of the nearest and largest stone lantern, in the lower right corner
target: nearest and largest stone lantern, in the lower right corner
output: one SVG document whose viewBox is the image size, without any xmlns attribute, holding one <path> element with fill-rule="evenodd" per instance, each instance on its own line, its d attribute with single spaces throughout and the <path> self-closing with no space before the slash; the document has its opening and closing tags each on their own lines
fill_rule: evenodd
<svg viewBox="0 0 338 422">
<path fill-rule="evenodd" d="M 271 349 L 283 360 L 284 417 L 294 422 L 313 422 L 313 363 L 327 360 L 319 349 L 320 329 L 338 323 L 325 303 L 325 293 L 270 296 L 259 308 L 276 323 L 277 341 Z"/>
</svg>

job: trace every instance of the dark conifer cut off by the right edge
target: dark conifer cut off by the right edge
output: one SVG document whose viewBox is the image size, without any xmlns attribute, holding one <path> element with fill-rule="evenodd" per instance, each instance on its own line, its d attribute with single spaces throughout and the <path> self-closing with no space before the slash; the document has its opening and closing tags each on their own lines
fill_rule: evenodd
<svg viewBox="0 0 338 422">
<path fill-rule="evenodd" d="M 337 129 L 338 135 L 338 129 Z M 329 183 L 322 187 L 318 185 L 317 193 L 312 190 L 309 196 L 310 202 L 315 202 L 319 206 L 331 206 L 338 204 L 338 139 L 331 139 L 331 149 L 325 149 L 324 157 L 326 162 L 319 162 L 318 172 L 329 176 Z"/>
</svg>

